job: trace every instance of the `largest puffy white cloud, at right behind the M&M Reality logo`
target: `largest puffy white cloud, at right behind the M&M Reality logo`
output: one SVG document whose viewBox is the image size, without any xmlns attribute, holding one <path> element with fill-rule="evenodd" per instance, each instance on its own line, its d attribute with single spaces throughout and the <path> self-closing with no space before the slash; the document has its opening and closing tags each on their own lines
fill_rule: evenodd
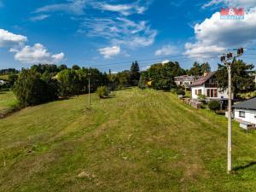
<svg viewBox="0 0 256 192">
<path fill-rule="evenodd" d="M 205 55 L 204 52 L 221 52 L 256 41 L 256 8 L 245 14 L 244 20 L 220 20 L 219 12 L 195 27 L 194 44 L 185 44 L 188 55 Z"/>
</svg>

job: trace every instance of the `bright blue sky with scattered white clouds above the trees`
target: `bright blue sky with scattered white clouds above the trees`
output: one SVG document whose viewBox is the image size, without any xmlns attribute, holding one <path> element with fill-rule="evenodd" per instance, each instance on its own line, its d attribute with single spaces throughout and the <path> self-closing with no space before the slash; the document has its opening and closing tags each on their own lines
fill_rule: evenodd
<svg viewBox="0 0 256 192">
<path fill-rule="evenodd" d="M 48 62 L 120 71 L 134 60 L 143 69 L 171 60 L 214 69 L 226 49 L 256 47 L 255 2 L 0 0 L 0 68 Z M 245 8 L 245 19 L 220 20 L 221 7 Z M 254 52 L 243 59 L 254 62 Z"/>
</svg>

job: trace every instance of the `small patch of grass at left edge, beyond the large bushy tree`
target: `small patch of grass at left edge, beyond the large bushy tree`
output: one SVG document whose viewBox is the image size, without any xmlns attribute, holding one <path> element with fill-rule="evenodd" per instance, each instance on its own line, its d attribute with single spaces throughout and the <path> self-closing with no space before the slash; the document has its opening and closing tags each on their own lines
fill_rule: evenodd
<svg viewBox="0 0 256 192">
<path fill-rule="evenodd" d="M 16 98 L 12 91 L 0 91 L 0 113 L 6 113 L 15 102 Z"/>
</svg>

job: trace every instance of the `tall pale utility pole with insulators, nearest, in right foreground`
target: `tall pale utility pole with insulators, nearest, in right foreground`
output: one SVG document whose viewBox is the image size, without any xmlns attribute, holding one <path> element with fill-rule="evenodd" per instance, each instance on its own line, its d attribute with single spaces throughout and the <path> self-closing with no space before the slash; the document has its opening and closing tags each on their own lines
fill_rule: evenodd
<svg viewBox="0 0 256 192">
<path fill-rule="evenodd" d="M 243 54 L 243 49 L 237 49 L 237 56 L 240 56 Z M 225 66 L 228 69 L 228 81 L 229 81 L 229 87 L 228 87 L 228 94 L 229 94 L 229 104 L 228 104 L 228 155 L 227 155 L 227 172 L 230 174 L 232 172 L 232 77 L 231 77 L 231 66 L 236 61 L 236 56 L 233 58 L 232 63 L 228 62 L 226 60 L 226 57 L 228 60 L 233 58 L 233 54 L 229 53 L 226 56 L 223 55 L 220 57 L 220 61 L 223 61 Z"/>
</svg>

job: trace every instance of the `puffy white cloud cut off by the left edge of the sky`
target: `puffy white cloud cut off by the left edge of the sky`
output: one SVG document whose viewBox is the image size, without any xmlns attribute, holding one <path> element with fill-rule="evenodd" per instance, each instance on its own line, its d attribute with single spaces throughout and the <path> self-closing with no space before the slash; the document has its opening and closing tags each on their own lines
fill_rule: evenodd
<svg viewBox="0 0 256 192">
<path fill-rule="evenodd" d="M 10 47 L 17 44 L 22 44 L 27 41 L 23 35 L 16 35 L 4 29 L 0 29 L 0 47 Z"/>
</svg>

